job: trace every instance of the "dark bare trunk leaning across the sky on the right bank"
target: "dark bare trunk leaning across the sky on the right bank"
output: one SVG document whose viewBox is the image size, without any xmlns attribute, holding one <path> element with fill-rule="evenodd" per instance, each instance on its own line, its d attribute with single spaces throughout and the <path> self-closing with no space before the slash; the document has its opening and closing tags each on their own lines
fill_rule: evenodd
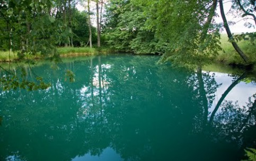
<svg viewBox="0 0 256 161">
<path fill-rule="evenodd" d="M 224 13 L 224 8 L 223 8 L 223 0 L 219 1 L 219 8 L 220 8 L 220 14 L 222 15 L 222 20 L 224 23 L 224 27 L 226 29 L 227 32 L 227 36 L 229 39 L 232 38 L 232 33 L 229 29 L 228 23 L 227 23 L 227 19 Z M 236 42 L 232 41 L 232 45 L 234 47 L 234 49 L 236 50 L 237 53 L 239 53 L 239 55 L 241 56 L 241 58 L 244 60 L 245 63 L 248 62 L 248 57 L 243 53 L 243 51 L 239 48 L 239 46 L 236 44 Z"/>
</svg>

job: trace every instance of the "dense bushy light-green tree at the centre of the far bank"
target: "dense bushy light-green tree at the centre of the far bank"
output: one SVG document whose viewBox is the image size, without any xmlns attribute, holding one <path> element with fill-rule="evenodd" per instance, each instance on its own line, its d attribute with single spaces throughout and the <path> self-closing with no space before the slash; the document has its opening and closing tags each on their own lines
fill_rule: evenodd
<svg viewBox="0 0 256 161">
<path fill-rule="evenodd" d="M 155 37 L 154 30 L 145 25 L 147 17 L 142 7 L 130 1 L 110 1 L 104 26 L 111 48 L 122 52 L 155 54 L 165 51 L 165 41 Z"/>
</svg>

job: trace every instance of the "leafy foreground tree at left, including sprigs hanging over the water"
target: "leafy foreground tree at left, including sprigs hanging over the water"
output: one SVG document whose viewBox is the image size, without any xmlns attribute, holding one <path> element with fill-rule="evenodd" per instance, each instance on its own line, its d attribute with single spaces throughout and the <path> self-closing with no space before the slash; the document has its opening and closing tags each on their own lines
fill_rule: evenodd
<svg viewBox="0 0 256 161">
<path fill-rule="evenodd" d="M 68 41 L 70 30 L 63 23 L 51 16 L 51 1 L 1 1 L 0 22 L 1 36 L 5 50 L 17 52 L 19 59 L 27 59 L 29 67 L 33 61 L 29 55 L 40 53 L 45 59 L 59 61 L 60 57 L 56 45 Z M 12 11 L 12 12 L 10 12 Z M 11 53 L 10 53 L 11 54 Z M 1 66 L 0 66 L 1 67 Z M 37 79 L 27 80 L 27 71 L 23 68 L 21 75 L 17 75 L 10 67 L 4 69 L 7 74 L 0 78 L 3 89 L 16 89 L 18 87 L 28 90 L 46 89 L 49 84 L 44 83 L 36 74 Z M 31 70 L 31 68 L 30 68 Z"/>
</svg>

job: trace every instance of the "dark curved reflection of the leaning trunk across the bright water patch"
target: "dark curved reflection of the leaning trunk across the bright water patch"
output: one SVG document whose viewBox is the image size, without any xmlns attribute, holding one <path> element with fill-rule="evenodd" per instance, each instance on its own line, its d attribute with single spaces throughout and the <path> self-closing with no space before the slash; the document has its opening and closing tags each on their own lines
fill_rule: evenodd
<svg viewBox="0 0 256 161">
<path fill-rule="evenodd" d="M 219 108 L 219 106 L 222 104 L 223 100 L 225 99 L 225 97 L 227 96 L 227 94 L 236 86 L 236 84 L 239 83 L 239 81 L 241 81 L 242 79 L 244 79 L 246 76 L 246 73 L 244 72 L 237 80 L 235 80 L 228 88 L 227 90 L 222 94 L 222 97 L 219 99 L 215 109 L 213 110 L 213 113 L 211 113 L 210 116 L 210 120 L 209 120 L 209 124 L 211 124 L 211 122 L 214 119 L 214 116 Z"/>
</svg>

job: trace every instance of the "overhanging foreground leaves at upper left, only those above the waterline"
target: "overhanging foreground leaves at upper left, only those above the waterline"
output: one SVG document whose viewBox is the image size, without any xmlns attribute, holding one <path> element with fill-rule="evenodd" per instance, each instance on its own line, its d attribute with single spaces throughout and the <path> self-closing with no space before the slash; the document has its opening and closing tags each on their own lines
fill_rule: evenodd
<svg viewBox="0 0 256 161">
<path fill-rule="evenodd" d="M 1 6 L 0 20 L 3 36 L 2 48 L 19 51 L 19 58 L 25 53 L 54 55 L 55 45 L 67 41 L 70 30 L 49 14 L 51 1 L 7 1 Z"/>
</svg>

